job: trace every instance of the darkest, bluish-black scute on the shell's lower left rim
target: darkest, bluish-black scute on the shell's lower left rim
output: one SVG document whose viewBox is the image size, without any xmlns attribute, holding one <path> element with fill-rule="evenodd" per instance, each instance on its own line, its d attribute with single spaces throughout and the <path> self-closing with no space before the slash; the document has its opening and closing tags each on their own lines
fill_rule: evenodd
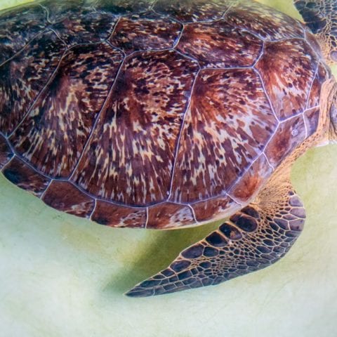
<svg viewBox="0 0 337 337">
<path fill-rule="evenodd" d="M 9 164 L 4 167 L 2 173 L 4 173 L 4 176 L 13 184 L 23 190 L 31 192 L 37 197 L 40 197 L 44 190 L 46 190 L 50 181 L 50 179 L 34 171 L 18 157 L 14 157 Z"/>
</svg>

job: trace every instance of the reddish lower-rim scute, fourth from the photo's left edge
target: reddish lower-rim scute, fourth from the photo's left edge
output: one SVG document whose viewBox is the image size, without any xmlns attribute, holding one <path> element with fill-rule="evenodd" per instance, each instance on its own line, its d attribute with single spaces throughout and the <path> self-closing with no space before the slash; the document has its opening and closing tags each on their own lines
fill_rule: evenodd
<svg viewBox="0 0 337 337">
<path fill-rule="evenodd" d="M 143 228 L 146 223 L 146 209 L 119 206 L 97 200 L 91 220 L 111 227 Z"/>
</svg>

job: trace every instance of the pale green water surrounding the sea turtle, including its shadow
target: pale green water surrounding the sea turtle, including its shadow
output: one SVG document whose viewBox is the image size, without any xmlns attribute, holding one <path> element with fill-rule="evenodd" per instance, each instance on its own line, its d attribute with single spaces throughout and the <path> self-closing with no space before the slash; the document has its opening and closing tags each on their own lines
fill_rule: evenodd
<svg viewBox="0 0 337 337">
<path fill-rule="evenodd" d="M 294 13 L 291 1 L 279 6 Z M 0 337 L 336 336 L 336 162 L 337 146 L 329 146 L 294 166 L 308 220 L 279 263 L 220 286 L 144 299 L 122 293 L 213 225 L 110 229 L 54 211 L 0 176 Z"/>
</svg>

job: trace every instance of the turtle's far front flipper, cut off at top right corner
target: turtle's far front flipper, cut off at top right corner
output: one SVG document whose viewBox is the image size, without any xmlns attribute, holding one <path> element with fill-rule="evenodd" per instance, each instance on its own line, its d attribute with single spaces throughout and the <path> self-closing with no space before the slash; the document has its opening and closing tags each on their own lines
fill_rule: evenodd
<svg viewBox="0 0 337 337">
<path fill-rule="evenodd" d="M 328 62 L 337 62 L 337 0 L 293 0 Z"/>
</svg>

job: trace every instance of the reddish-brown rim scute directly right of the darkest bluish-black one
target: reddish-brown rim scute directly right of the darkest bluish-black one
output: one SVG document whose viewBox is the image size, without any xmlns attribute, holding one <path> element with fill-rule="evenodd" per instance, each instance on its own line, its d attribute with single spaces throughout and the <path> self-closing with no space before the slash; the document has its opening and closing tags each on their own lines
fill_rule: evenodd
<svg viewBox="0 0 337 337">
<path fill-rule="evenodd" d="M 58 211 L 88 218 L 95 201 L 66 181 L 53 180 L 44 193 L 42 200 Z"/>
</svg>

